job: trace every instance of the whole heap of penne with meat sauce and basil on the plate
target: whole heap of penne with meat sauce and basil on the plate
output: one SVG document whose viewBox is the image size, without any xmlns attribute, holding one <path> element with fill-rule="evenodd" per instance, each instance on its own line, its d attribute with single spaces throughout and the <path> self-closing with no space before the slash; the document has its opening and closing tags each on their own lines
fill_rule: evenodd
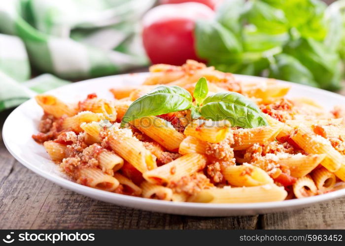
<svg viewBox="0 0 345 246">
<path fill-rule="evenodd" d="M 344 188 L 345 107 L 327 112 L 289 89 L 191 60 L 156 64 L 112 100 L 37 95 L 33 139 L 78 184 L 131 196 L 254 203 Z"/>
</svg>

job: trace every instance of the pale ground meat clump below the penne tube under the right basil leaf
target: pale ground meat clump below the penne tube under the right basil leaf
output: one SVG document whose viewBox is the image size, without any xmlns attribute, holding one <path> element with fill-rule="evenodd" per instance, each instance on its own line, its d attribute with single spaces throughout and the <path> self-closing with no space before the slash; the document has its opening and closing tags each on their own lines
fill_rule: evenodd
<svg viewBox="0 0 345 246">
<path fill-rule="evenodd" d="M 235 162 L 234 150 L 230 147 L 229 138 L 220 143 L 206 143 L 206 154 L 211 160 L 222 160 L 230 163 Z"/>
</svg>

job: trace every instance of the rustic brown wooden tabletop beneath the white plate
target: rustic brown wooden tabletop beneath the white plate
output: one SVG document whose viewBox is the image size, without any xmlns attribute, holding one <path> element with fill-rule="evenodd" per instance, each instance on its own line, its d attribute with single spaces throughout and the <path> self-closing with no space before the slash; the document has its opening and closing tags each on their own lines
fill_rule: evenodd
<svg viewBox="0 0 345 246">
<path fill-rule="evenodd" d="M 0 113 L 0 130 L 10 111 Z M 53 184 L 12 157 L 0 136 L 0 229 L 344 229 L 345 197 L 266 215 L 166 215 L 97 201 Z"/>
</svg>

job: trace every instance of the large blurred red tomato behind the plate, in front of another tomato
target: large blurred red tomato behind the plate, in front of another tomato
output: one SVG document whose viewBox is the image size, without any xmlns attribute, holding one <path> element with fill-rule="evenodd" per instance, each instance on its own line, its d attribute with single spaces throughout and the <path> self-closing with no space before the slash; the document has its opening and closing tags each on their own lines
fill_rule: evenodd
<svg viewBox="0 0 345 246">
<path fill-rule="evenodd" d="M 197 19 L 211 19 L 214 12 L 204 4 L 164 4 L 149 10 L 143 18 L 142 40 L 151 62 L 182 65 L 198 59 L 194 46 Z"/>
</svg>

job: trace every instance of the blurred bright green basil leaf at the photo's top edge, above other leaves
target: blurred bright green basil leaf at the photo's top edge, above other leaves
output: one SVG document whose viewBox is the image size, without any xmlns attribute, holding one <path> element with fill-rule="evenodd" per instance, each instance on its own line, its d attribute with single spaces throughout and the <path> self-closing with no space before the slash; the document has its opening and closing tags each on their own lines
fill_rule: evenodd
<svg viewBox="0 0 345 246">
<path fill-rule="evenodd" d="M 271 34 L 283 33 L 288 30 L 288 22 L 281 9 L 259 0 L 250 1 L 248 4 L 250 7 L 246 14 L 247 20 L 258 30 Z"/>
</svg>

